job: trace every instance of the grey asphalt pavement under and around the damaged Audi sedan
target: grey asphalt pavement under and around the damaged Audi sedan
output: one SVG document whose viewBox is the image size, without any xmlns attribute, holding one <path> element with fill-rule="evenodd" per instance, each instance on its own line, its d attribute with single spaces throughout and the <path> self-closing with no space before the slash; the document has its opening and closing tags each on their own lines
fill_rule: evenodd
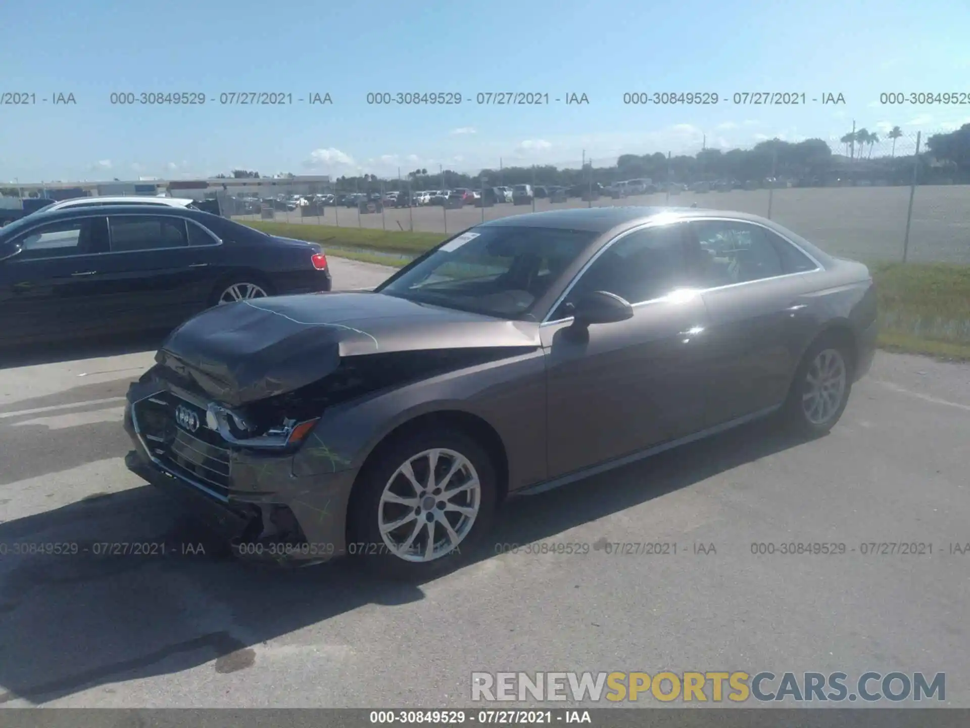
<svg viewBox="0 0 970 728">
<path fill-rule="evenodd" d="M 123 396 L 155 346 L 0 364 L 0 704 L 469 707 L 474 671 L 766 670 L 944 672 L 970 707 L 970 367 L 880 352 L 827 437 L 751 425 L 510 502 L 469 566 L 404 585 L 234 562 L 130 474 Z"/>
</svg>

